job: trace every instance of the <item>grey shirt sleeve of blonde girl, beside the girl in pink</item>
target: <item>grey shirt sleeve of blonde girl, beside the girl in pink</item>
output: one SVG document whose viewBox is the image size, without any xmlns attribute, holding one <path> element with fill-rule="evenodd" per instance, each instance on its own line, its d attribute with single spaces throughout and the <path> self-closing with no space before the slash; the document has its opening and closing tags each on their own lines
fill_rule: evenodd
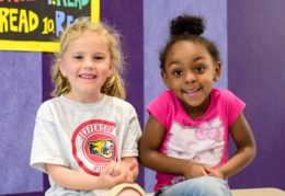
<svg viewBox="0 0 285 196">
<path fill-rule="evenodd" d="M 138 157 L 138 140 L 141 135 L 141 129 L 138 122 L 137 113 L 133 106 L 132 106 L 128 125 L 126 127 L 127 130 L 125 130 L 126 135 L 123 141 L 124 143 L 123 143 L 122 158 Z"/>
</svg>

